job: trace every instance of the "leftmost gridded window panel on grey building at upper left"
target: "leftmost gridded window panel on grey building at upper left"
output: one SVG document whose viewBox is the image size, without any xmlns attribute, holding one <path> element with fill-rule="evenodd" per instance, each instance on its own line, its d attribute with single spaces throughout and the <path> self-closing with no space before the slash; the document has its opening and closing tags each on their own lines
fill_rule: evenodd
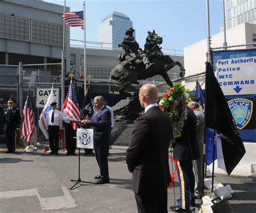
<svg viewBox="0 0 256 213">
<path fill-rule="evenodd" d="M 29 20 L 0 15 L 0 37 L 29 41 Z"/>
</svg>

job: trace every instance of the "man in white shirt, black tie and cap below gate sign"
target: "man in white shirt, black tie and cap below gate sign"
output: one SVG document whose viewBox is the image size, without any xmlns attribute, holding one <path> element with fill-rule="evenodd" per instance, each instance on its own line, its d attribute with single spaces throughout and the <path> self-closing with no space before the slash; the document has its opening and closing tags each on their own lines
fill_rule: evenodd
<svg viewBox="0 0 256 213">
<path fill-rule="evenodd" d="M 62 129 L 62 113 L 57 110 L 57 103 L 52 102 L 51 108 L 46 116 L 46 129 L 49 133 L 50 154 L 58 154 L 59 150 L 59 129 Z"/>
</svg>

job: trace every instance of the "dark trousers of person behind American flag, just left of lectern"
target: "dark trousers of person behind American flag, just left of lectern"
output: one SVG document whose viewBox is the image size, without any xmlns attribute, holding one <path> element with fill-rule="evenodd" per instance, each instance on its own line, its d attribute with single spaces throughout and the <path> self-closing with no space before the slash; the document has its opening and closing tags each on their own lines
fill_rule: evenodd
<svg viewBox="0 0 256 213">
<path fill-rule="evenodd" d="M 65 141 L 68 153 L 76 152 L 76 130 L 73 130 L 71 123 L 65 123 Z"/>
</svg>

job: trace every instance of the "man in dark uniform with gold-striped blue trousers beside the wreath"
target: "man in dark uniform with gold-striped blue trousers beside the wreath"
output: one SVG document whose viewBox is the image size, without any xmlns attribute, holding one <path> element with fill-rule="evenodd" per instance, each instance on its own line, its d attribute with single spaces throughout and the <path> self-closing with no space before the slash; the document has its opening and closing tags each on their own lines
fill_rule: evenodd
<svg viewBox="0 0 256 213">
<path fill-rule="evenodd" d="M 190 212 L 190 205 L 194 207 L 194 173 L 192 160 L 199 157 L 196 138 L 197 117 L 190 108 L 186 108 L 187 119 L 182 127 L 181 136 L 175 138 L 173 144 L 173 158 L 178 158 L 178 178 L 180 184 L 180 198 L 178 205 L 171 207 L 175 212 Z"/>
</svg>

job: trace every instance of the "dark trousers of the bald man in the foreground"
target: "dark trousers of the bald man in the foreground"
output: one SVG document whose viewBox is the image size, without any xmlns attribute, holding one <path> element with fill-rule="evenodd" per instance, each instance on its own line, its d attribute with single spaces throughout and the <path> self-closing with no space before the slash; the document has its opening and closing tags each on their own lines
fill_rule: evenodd
<svg viewBox="0 0 256 213">
<path fill-rule="evenodd" d="M 134 193 L 139 213 L 167 213 L 167 188 L 163 193 L 140 196 Z"/>
</svg>

